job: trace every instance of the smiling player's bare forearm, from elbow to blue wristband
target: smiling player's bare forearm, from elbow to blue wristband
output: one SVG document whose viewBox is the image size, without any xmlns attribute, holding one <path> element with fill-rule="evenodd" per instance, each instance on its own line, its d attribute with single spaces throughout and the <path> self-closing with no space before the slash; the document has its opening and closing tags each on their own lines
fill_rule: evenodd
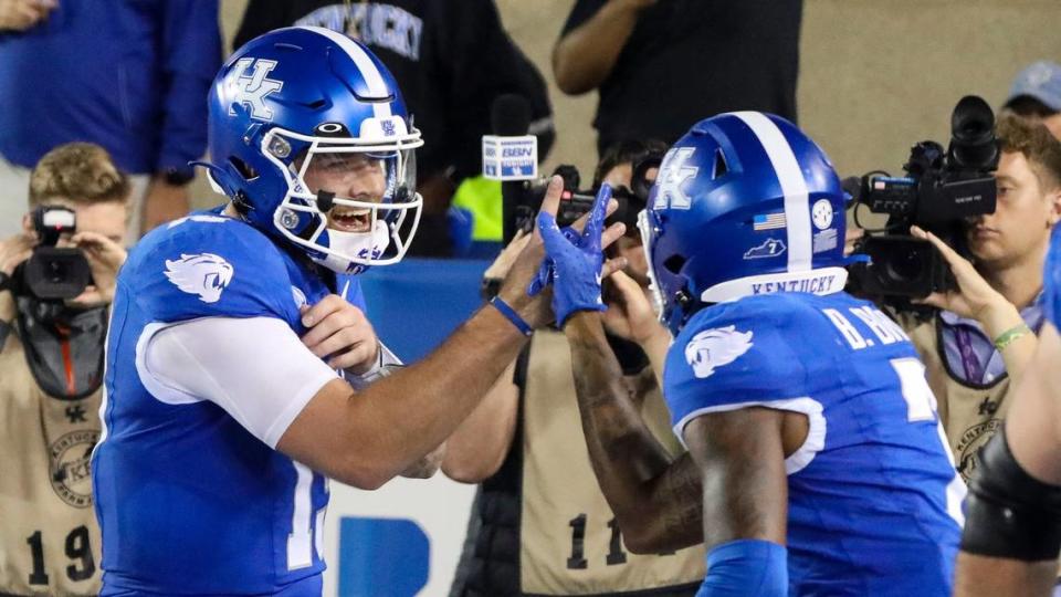
<svg viewBox="0 0 1061 597">
<path fill-rule="evenodd" d="M 463 421 L 526 337 L 486 306 L 427 358 L 356 395 L 360 458 L 389 479 L 442 443 Z"/>
</svg>

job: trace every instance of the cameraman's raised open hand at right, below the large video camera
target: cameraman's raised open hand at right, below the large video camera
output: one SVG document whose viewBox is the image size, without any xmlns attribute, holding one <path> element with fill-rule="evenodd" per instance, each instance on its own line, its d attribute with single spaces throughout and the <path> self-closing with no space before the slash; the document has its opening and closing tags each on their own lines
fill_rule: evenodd
<svg viewBox="0 0 1061 597">
<path fill-rule="evenodd" d="M 1017 307 L 1007 301 L 1001 293 L 992 289 L 969 260 L 947 247 L 932 232 L 922 230 L 916 226 L 911 227 L 910 232 L 914 238 L 927 240 L 939 251 L 947 261 L 947 265 L 950 266 L 950 272 L 958 284 L 957 291 L 934 292 L 921 301 L 916 301 L 917 303 L 976 320 L 991 338 L 1022 323 Z"/>
</svg>

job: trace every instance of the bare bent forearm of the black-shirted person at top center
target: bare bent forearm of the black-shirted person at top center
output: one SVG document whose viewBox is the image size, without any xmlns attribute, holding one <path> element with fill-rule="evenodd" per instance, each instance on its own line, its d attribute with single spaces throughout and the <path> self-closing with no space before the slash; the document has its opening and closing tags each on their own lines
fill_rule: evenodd
<svg viewBox="0 0 1061 597">
<path fill-rule="evenodd" d="M 611 74 L 637 22 L 637 9 L 608 2 L 560 38 L 553 49 L 553 74 L 560 91 L 578 95 L 597 88 Z"/>
</svg>

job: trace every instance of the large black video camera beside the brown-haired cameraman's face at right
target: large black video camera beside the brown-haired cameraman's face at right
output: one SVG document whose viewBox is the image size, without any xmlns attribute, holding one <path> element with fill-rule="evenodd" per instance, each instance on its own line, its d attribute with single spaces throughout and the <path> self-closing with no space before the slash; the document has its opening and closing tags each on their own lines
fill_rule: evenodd
<svg viewBox="0 0 1061 597">
<path fill-rule="evenodd" d="M 869 263 L 852 265 L 852 291 L 868 296 L 921 298 L 932 292 L 955 287 L 943 255 L 926 240 L 910 235 L 918 226 L 967 255 L 967 218 L 995 212 L 999 145 L 995 138 L 995 114 L 983 98 L 963 97 L 950 116 L 950 143 L 921 142 L 910 150 L 903 165 L 905 177 L 874 171 L 864 175 L 853 199 L 871 212 L 886 213 L 880 230 L 866 230 L 855 253 L 869 255 Z M 855 207 L 858 224 L 858 206 Z M 861 227 L 861 224 L 859 224 Z M 901 306 L 901 305 L 900 305 Z"/>
</svg>

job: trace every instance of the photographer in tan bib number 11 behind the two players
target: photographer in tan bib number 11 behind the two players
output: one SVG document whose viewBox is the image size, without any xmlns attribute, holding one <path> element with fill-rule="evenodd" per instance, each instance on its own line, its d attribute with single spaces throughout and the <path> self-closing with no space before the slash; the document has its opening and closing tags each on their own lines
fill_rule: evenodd
<svg viewBox="0 0 1061 597">
<path fill-rule="evenodd" d="M 647 158 L 663 149 L 661 143 L 612 145 L 598 165 L 593 187 L 637 188 L 632 180 L 638 176 L 654 180 L 655 168 L 648 167 L 652 163 Z M 525 238 L 517 235 L 485 276 L 503 276 Z M 628 227 L 613 248 L 614 256 L 629 262 L 630 277 L 622 280 L 634 290 L 628 292 L 643 292 L 648 266 L 637 228 Z M 629 326 L 621 328 L 626 318 L 620 311 L 609 310 L 612 332 L 632 336 Z M 612 335 L 609 344 L 653 433 L 680 452 L 647 356 L 623 337 Z M 593 475 L 580 420 L 567 339 L 558 331 L 539 329 L 448 440 L 443 472 L 482 483 L 452 596 L 651 591 L 664 597 L 696 591 L 704 569 L 698 547 L 668 555 L 628 549 Z"/>
</svg>

